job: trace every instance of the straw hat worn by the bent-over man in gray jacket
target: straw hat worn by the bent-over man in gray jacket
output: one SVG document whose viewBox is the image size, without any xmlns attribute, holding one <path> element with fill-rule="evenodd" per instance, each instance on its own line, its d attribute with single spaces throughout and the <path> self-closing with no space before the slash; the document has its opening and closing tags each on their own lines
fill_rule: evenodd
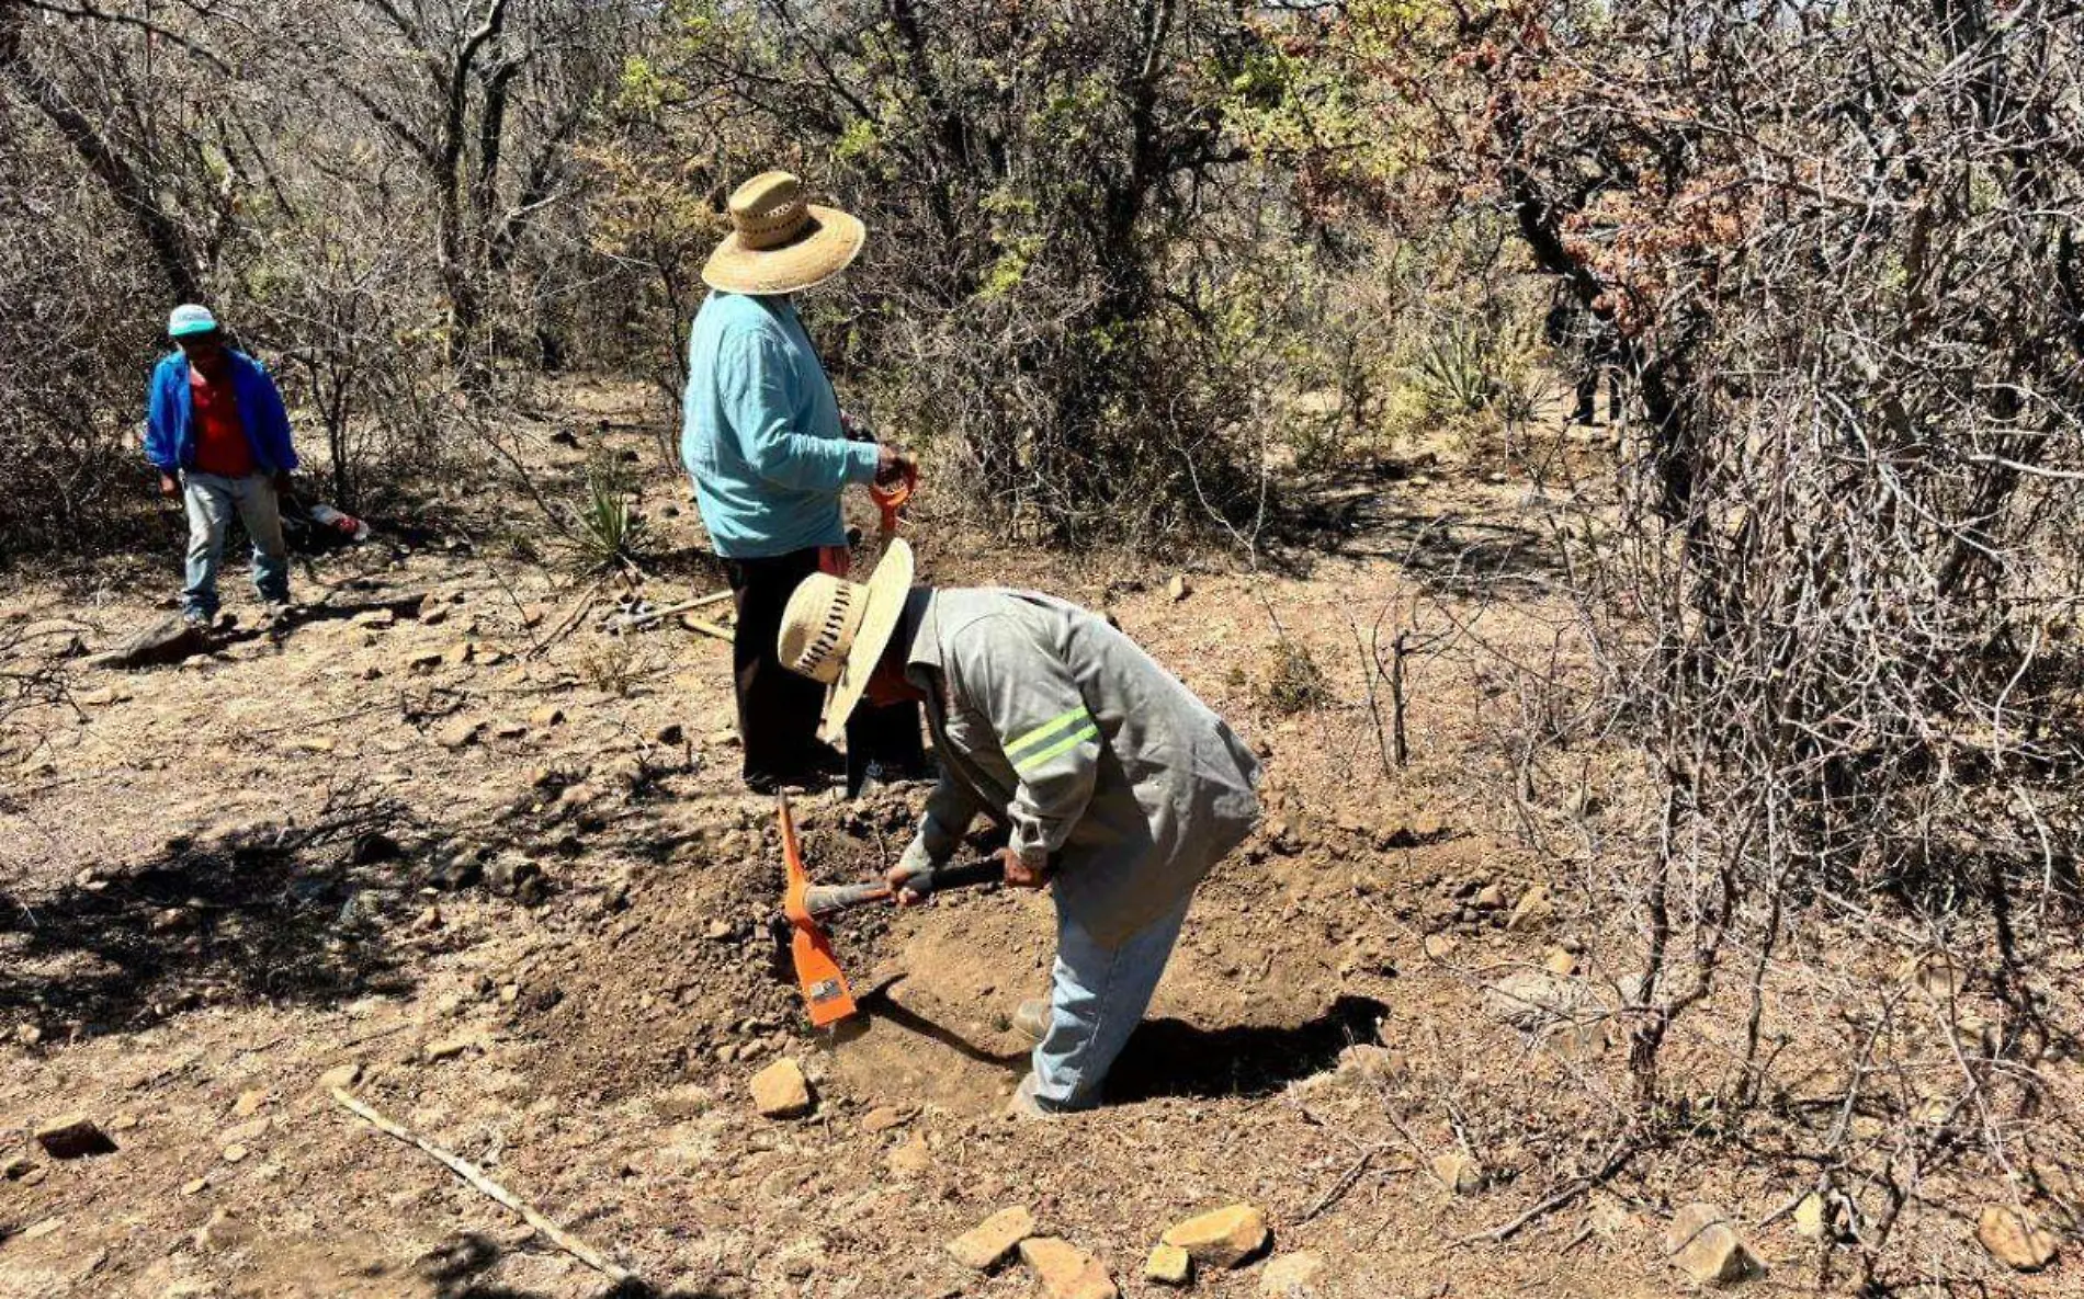
<svg viewBox="0 0 2084 1299">
<path fill-rule="evenodd" d="M 869 687 L 875 664 L 896 635 L 911 593 L 911 545 L 900 537 L 884 552 L 869 581 L 813 572 L 788 597 L 775 652 L 784 668 L 832 687 L 825 741 L 838 739 L 846 729 L 848 714 L 861 704 L 861 691 Z"/>
</svg>

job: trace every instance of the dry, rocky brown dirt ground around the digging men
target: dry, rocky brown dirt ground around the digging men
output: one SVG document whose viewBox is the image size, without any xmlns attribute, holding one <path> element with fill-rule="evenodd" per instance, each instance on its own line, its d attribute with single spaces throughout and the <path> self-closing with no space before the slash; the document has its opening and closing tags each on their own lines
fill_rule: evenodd
<svg viewBox="0 0 2084 1299">
<path fill-rule="evenodd" d="M 565 470 L 656 462 L 638 402 L 596 393 L 534 445 Z M 1363 477 L 1328 498 L 1307 566 L 1200 564 L 1184 597 L 1171 570 L 919 525 L 929 581 L 1105 606 L 1267 760 L 1267 826 L 1202 889 L 1115 1101 L 1042 1126 L 1002 1103 L 1046 899 L 840 922 L 877 991 L 850 1033 L 813 1035 L 771 970 L 782 866 L 771 804 L 736 783 L 729 652 L 677 622 L 604 635 L 615 585 L 588 608 L 586 583 L 450 520 L 300 572 L 306 602 L 425 591 L 417 616 L 315 616 L 173 668 L 73 658 L 69 697 L 8 718 L 0 754 L 0 1153 L 23 1160 L 0 1180 L 0 1295 L 615 1293 L 336 1105 L 329 1070 L 631 1270 L 631 1295 L 1029 1295 L 1019 1262 L 977 1274 L 942 1249 L 1015 1203 L 1123 1293 L 1163 1293 L 1142 1278 L 1159 1232 L 1234 1201 L 1267 1209 L 1273 1259 L 1323 1259 L 1325 1297 L 1686 1291 L 1659 1247 L 1671 1209 L 1759 1224 L 1803 1170 L 1646 1155 L 1480 1239 L 1601 1164 L 1615 1064 L 1603 1028 L 1523 1028 L 1484 985 L 1559 947 L 1586 987 L 1626 964 L 1567 908 L 1503 924 L 1540 870 L 1492 793 L 1482 679 L 1415 660 L 1413 760 L 1380 758 L 1355 622 L 1409 616 L 1471 547 L 1544 600 L 1523 493 L 1490 477 Z M 673 475 L 642 491 L 667 550 L 698 539 Z M 152 583 L 17 587 L 4 612 L 35 645 L 106 647 L 165 616 L 175 547 L 169 525 Z M 681 556 L 642 593 L 715 587 Z M 235 577 L 227 597 L 252 614 Z M 1548 635 L 1486 618 L 1500 643 Z M 1296 712 L 1269 704 L 1282 635 L 1328 687 Z M 875 870 L 917 793 L 802 799 L 811 868 Z M 750 1105 L 779 1055 L 815 1082 L 807 1118 Z M 117 1149 L 42 1153 L 27 1135 L 63 1112 Z M 1482 1191 L 1434 1176 L 1455 1151 Z M 1746 1230 L 1771 1264 L 1748 1293 L 1811 1289 L 1815 1247 L 1784 1216 Z M 1196 1293 L 1259 1295 L 1267 1266 Z M 2074 1262 L 2017 1282 L 1971 1251 L 1944 1266 L 1984 1293 L 2076 1293 Z"/>
</svg>

